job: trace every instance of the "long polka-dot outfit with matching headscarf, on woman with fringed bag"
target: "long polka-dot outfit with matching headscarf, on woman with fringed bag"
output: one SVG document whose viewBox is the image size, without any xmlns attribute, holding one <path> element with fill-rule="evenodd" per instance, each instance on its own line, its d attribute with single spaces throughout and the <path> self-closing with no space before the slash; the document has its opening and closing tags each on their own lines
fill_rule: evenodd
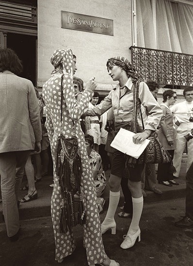
<svg viewBox="0 0 193 266">
<path fill-rule="evenodd" d="M 54 57 L 55 55 L 55 57 Z M 74 97 L 74 88 L 72 83 L 72 51 L 60 49 L 54 52 L 51 57 L 52 64 L 57 66 L 59 62 L 62 62 L 64 67 L 63 72 L 65 79 L 63 82 L 63 123 L 62 131 L 66 138 L 70 138 L 73 135 L 73 121 L 75 124 L 75 134 L 78 138 L 78 144 L 81 153 L 82 162 L 82 177 L 81 177 L 81 192 L 82 201 L 85 209 L 86 224 L 84 228 L 84 245 L 86 248 L 88 264 L 102 263 L 107 255 L 103 248 L 100 219 L 98 215 L 98 207 L 96 203 L 96 189 L 95 183 L 92 177 L 92 171 L 87 156 L 85 147 L 84 135 L 80 128 L 80 117 L 88 107 L 89 100 L 91 99 L 92 92 L 84 90 L 79 102 Z M 64 58 L 61 58 L 64 56 Z M 68 67 L 70 66 L 70 67 Z M 65 72 L 66 71 L 66 72 Z M 60 103 L 61 103 L 61 76 L 63 72 L 55 70 L 52 72 L 51 77 L 43 85 L 43 97 L 47 107 L 47 120 L 46 126 L 48 130 L 48 136 L 50 140 L 50 148 L 53 159 L 53 176 L 54 176 L 54 188 L 51 198 L 51 218 L 53 222 L 56 254 L 55 259 L 62 259 L 73 253 L 75 250 L 75 242 L 73 233 L 61 233 L 60 232 L 60 207 L 62 201 L 61 189 L 59 186 L 59 178 L 55 172 L 55 156 L 57 139 L 60 134 Z"/>
</svg>

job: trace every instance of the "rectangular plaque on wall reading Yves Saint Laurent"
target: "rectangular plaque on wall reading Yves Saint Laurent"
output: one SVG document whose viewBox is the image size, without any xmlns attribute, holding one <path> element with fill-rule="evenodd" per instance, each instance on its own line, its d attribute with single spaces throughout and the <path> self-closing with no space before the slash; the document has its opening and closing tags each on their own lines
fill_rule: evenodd
<svg viewBox="0 0 193 266">
<path fill-rule="evenodd" d="M 113 35 L 113 20 L 62 11 L 62 28 Z"/>
</svg>

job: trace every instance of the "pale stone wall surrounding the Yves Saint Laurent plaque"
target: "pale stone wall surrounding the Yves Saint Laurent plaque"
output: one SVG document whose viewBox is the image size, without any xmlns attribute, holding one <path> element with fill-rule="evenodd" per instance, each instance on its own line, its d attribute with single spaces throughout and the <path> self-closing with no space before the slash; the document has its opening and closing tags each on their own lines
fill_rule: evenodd
<svg viewBox="0 0 193 266">
<path fill-rule="evenodd" d="M 113 36 L 61 28 L 61 11 L 113 19 Z M 112 89 L 106 61 L 113 56 L 130 60 L 131 1 L 38 0 L 38 86 L 49 78 L 50 56 L 57 48 L 71 48 L 77 56 L 76 76 L 96 77 L 97 89 Z"/>
</svg>

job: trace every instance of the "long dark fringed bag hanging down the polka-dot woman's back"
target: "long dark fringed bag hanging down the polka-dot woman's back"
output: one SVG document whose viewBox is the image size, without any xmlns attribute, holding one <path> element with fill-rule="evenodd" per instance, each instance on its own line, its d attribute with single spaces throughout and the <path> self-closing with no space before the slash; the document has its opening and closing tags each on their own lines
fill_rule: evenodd
<svg viewBox="0 0 193 266">
<path fill-rule="evenodd" d="M 81 199 L 80 180 L 81 180 L 81 157 L 78 147 L 78 139 L 75 135 L 73 121 L 73 136 L 65 138 L 62 131 L 63 116 L 63 78 L 61 79 L 61 119 L 60 135 L 57 140 L 56 153 L 56 175 L 59 177 L 61 187 L 61 217 L 60 231 L 62 233 L 72 232 L 72 228 L 77 224 L 84 224 L 84 208 Z M 78 210 L 75 211 L 74 194 L 79 192 L 80 200 Z"/>
</svg>

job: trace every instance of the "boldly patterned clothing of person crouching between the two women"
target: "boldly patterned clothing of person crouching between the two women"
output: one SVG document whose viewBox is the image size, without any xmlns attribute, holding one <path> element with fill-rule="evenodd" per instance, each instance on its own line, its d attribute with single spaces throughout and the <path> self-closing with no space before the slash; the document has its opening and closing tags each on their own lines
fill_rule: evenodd
<svg viewBox="0 0 193 266">
<path fill-rule="evenodd" d="M 106 187 L 106 177 L 105 177 L 105 172 L 103 171 L 102 168 L 102 160 L 100 155 L 94 149 L 92 149 L 91 154 L 89 155 L 89 159 L 90 159 L 91 169 L 98 172 L 95 179 L 95 187 L 96 187 L 96 195 L 97 197 L 100 197 Z"/>
</svg>

